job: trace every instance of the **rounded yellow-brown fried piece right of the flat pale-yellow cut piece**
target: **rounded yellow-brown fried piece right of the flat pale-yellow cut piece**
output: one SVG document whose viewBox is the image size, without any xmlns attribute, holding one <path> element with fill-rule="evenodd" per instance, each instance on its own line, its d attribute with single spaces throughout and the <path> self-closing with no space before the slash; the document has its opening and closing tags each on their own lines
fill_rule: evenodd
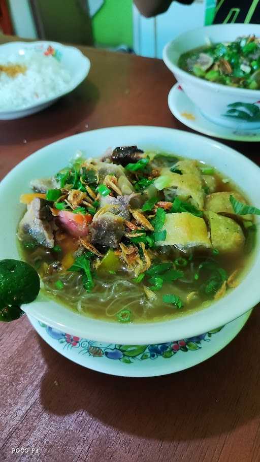
<svg viewBox="0 0 260 462">
<path fill-rule="evenodd" d="M 210 226 L 212 247 L 220 253 L 240 253 L 245 244 L 245 237 L 240 225 L 232 218 L 205 212 Z"/>
</svg>

